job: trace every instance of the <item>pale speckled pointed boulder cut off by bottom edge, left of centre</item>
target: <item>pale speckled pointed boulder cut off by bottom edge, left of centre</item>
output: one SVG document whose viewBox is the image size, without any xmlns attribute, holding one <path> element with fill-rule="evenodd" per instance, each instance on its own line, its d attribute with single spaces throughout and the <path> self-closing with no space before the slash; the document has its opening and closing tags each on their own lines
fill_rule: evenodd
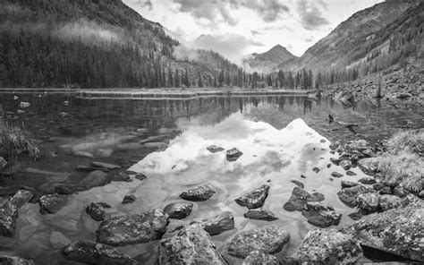
<svg viewBox="0 0 424 265">
<path fill-rule="evenodd" d="M 161 264 L 227 264 L 199 224 L 184 227 L 177 235 L 162 239 L 158 247 Z"/>
</svg>

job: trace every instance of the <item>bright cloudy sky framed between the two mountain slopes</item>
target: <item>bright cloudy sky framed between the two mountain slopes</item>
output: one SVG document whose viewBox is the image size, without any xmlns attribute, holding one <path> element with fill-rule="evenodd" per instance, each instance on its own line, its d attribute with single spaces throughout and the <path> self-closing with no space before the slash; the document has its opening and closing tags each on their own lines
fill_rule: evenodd
<svg viewBox="0 0 424 265">
<path fill-rule="evenodd" d="M 280 44 L 301 56 L 353 13 L 383 0 L 123 0 L 189 47 L 235 63 Z"/>
</svg>

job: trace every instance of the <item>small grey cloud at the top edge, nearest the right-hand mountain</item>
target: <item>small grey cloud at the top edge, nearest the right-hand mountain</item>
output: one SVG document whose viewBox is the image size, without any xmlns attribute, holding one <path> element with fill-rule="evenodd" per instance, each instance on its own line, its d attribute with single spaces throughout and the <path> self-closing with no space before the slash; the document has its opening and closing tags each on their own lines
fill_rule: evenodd
<svg viewBox="0 0 424 265">
<path fill-rule="evenodd" d="M 330 23 L 312 0 L 299 0 L 297 7 L 301 15 L 301 25 L 305 30 L 318 30 Z"/>
</svg>

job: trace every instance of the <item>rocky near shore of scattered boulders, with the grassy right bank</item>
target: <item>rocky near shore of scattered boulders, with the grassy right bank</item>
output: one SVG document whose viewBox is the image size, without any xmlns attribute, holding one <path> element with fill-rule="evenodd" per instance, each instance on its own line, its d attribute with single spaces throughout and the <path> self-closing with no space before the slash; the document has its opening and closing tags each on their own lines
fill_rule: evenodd
<svg viewBox="0 0 424 265">
<path fill-rule="evenodd" d="M 284 209 L 301 211 L 304 218 L 318 228 L 311 230 L 303 238 L 298 250 L 283 260 L 278 260 L 273 254 L 284 249 L 293 231 L 272 225 L 272 221 L 278 217 L 263 209 L 270 184 L 262 184 L 235 198 L 234 201 L 240 207 L 248 209 L 245 218 L 271 223 L 234 235 L 226 246 L 226 254 L 242 259 L 243 264 L 354 264 L 371 248 L 395 254 L 408 261 L 424 262 L 423 139 L 424 132 L 418 130 L 396 133 L 389 141 L 377 142 L 375 145 L 364 140 L 337 141 L 330 145 L 329 152 L 334 155 L 328 161 L 331 165 L 342 167 L 346 175 L 353 167 L 359 167 L 369 175 L 357 182 L 342 181 L 341 190 L 337 192 L 340 201 L 349 207 L 356 207 L 356 211 L 349 215 L 356 221 L 338 227 L 342 215 L 323 202 L 323 194 L 308 192 L 304 184 L 298 181 L 292 196 L 284 203 Z M 224 149 L 216 146 L 208 150 L 224 153 Z M 226 157 L 234 153 L 242 156 L 240 150 L 228 150 Z M 399 156 L 404 159 L 396 160 L 395 157 Z M 405 161 L 406 158 L 410 160 Z M 231 163 L 233 160 L 229 161 Z M 100 162 L 93 163 L 93 167 L 119 169 L 118 166 Z M 402 167 L 407 167 L 407 170 L 400 170 Z M 129 177 L 136 178 L 137 175 Z M 343 178 L 343 174 L 334 174 L 333 177 Z M 88 188 L 107 183 L 102 170 L 92 171 L 84 181 Z M 199 185 L 180 194 L 184 201 L 169 203 L 164 209 L 112 218 L 105 216 L 105 209 L 109 205 L 93 201 L 85 210 L 91 218 L 100 222 L 95 231 L 96 238 L 92 241 L 69 242 L 62 249 L 62 254 L 70 261 L 137 264 L 137 261 L 116 247 L 159 241 L 159 264 L 228 264 L 223 252 L 216 248 L 214 235 L 236 228 L 232 212 L 222 212 L 214 218 L 191 223 L 183 222 L 193 210 L 191 201 L 201 203 L 211 200 L 215 195 L 216 187 L 213 185 Z M 33 196 L 33 192 L 21 189 L 4 202 L 0 209 L 2 236 L 15 235 L 19 209 Z M 40 211 L 54 215 L 66 204 L 66 196 L 58 193 L 41 196 L 38 199 Z M 182 220 L 181 225 L 168 227 L 170 218 Z M 323 229 L 325 227 L 332 228 Z M 174 234 L 163 238 L 167 232 Z M 0 261 L 5 264 L 33 264 L 32 261 L 12 256 L 2 256 Z"/>
</svg>

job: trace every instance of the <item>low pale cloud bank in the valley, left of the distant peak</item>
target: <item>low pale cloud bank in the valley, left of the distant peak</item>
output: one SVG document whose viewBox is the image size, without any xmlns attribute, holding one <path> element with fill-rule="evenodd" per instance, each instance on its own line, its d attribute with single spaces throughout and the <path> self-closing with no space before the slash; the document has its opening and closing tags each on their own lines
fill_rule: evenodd
<svg viewBox="0 0 424 265">
<path fill-rule="evenodd" d="M 196 38 L 192 46 L 207 50 L 213 49 L 217 53 L 233 61 L 233 63 L 240 64 L 242 62 L 244 50 L 247 47 L 261 47 L 263 44 L 242 35 L 221 34 L 201 35 L 199 38 Z"/>
</svg>

